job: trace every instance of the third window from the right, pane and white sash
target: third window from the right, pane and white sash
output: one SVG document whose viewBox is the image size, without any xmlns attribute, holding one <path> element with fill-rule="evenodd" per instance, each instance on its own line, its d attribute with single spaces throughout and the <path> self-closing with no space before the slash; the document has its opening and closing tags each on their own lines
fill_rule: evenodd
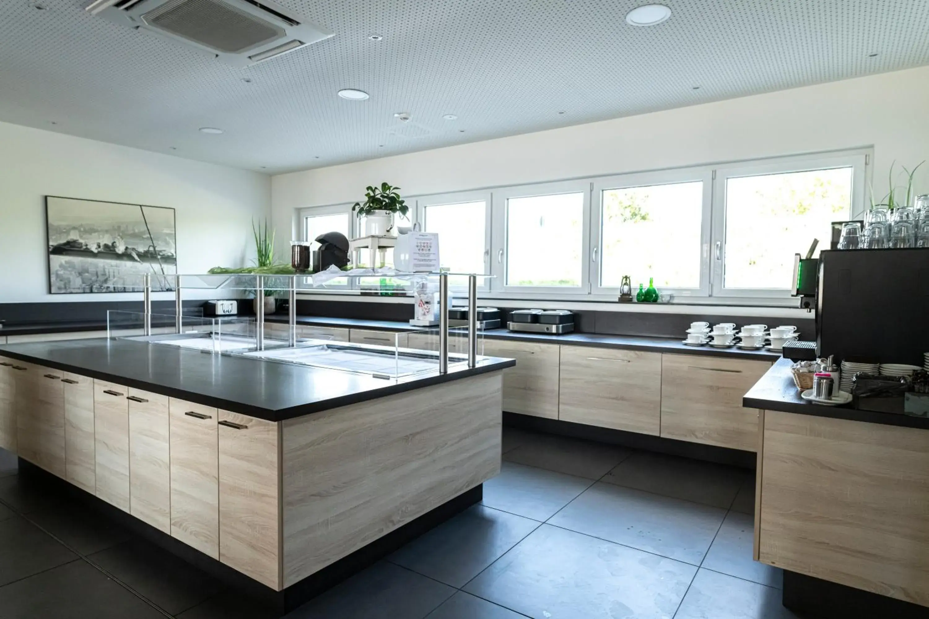
<svg viewBox="0 0 929 619">
<path fill-rule="evenodd" d="M 516 187 L 499 198 L 493 193 L 494 236 L 505 243 L 494 266 L 504 290 L 587 291 L 589 199 L 589 181 Z"/>
</svg>

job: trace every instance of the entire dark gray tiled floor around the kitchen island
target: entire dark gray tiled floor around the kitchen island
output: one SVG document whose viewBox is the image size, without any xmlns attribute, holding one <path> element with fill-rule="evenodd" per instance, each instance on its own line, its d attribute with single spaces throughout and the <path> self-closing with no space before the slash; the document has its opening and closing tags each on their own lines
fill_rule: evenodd
<svg viewBox="0 0 929 619">
<path fill-rule="evenodd" d="M 0 454 L 0 464 L 5 462 Z M 747 471 L 504 432 L 482 505 L 288 619 L 791 619 L 752 561 Z M 0 615 L 268 619 L 234 590 L 0 474 Z"/>
</svg>

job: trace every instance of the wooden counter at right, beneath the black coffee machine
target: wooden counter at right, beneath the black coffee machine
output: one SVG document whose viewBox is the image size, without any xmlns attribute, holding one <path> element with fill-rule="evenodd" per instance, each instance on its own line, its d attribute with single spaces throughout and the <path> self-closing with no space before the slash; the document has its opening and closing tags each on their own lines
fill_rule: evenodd
<svg viewBox="0 0 929 619">
<path fill-rule="evenodd" d="M 809 404 L 790 365 L 743 401 L 762 409 L 755 561 L 801 616 L 929 616 L 929 419 Z"/>
</svg>

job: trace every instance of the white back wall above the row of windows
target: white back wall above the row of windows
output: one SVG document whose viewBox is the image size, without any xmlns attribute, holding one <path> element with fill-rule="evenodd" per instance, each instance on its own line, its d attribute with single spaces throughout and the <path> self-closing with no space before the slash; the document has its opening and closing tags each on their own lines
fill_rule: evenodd
<svg viewBox="0 0 929 619">
<path fill-rule="evenodd" d="M 353 202 L 381 181 L 415 196 L 870 146 L 879 199 L 892 161 L 929 159 L 929 67 L 280 174 L 273 222 L 283 233 L 294 209 Z M 918 181 L 929 191 L 929 163 Z"/>
</svg>

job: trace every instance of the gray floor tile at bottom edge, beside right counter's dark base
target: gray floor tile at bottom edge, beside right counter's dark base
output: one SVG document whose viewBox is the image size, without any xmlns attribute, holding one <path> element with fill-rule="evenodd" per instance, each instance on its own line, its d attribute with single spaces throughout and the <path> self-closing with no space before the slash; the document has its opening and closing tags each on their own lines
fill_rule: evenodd
<svg viewBox="0 0 929 619">
<path fill-rule="evenodd" d="M 780 591 L 726 574 L 700 570 L 674 619 L 797 619 Z"/>
</svg>

